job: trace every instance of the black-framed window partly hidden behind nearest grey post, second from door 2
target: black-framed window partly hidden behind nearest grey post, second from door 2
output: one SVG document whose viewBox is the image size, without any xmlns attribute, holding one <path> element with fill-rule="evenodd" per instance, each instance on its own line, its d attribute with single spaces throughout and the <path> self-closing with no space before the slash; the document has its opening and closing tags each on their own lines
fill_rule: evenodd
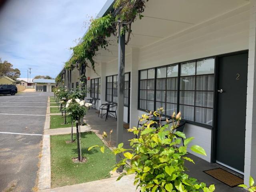
<svg viewBox="0 0 256 192">
<path fill-rule="evenodd" d="M 130 92 L 130 73 L 125 73 L 124 82 L 124 106 L 129 105 L 129 92 Z M 106 77 L 106 101 L 118 102 L 118 75 L 111 75 Z"/>
</svg>

